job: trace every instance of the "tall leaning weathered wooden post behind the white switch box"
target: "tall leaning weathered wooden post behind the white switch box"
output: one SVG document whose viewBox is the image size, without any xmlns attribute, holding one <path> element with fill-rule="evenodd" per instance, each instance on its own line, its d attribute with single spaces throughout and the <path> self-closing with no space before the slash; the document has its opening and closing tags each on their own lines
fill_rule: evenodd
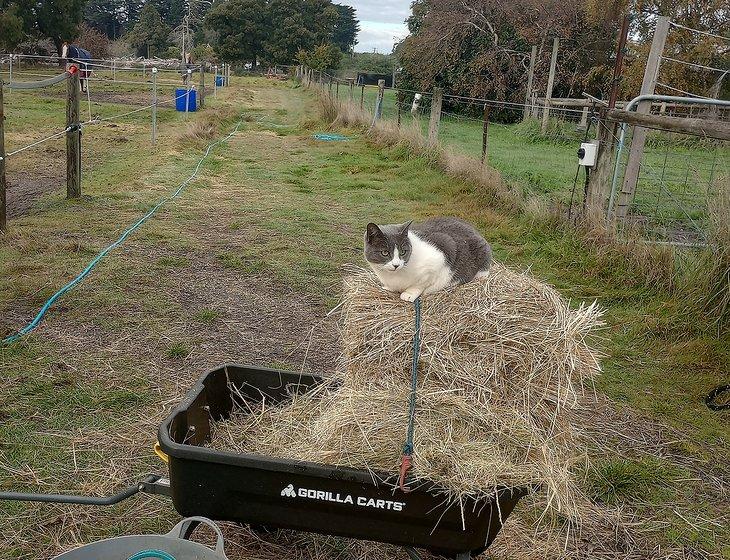
<svg viewBox="0 0 730 560">
<path fill-rule="evenodd" d="M 659 16 L 657 18 L 656 30 L 654 31 L 654 38 L 651 41 L 649 57 L 646 59 L 644 79 L 641 83 L 641 95 L 654 93 L 657 78 L 659 76 L 659 66 L 662 61 L 664 45 L 667 42 L 668 32 L 669 18 L 667 16 Z M 650 110 L 651 101 L 642 101 L 636 108 L 637 113 L 646 114 L 649 113 Z M 629 211 L 629 205 L 634 197 L 634 192 L 636 192 L 636 183 L 639 180 L 639 170 L 641 167 L 641 159 L 644 155 L 645 143 L 646 129 L 641 126 L 635 126 L 634 135 L 631 139 L 629 159 L 626 162 L 626 171 L 624 172 L 623 188 L 619 193 L 618 203 L 616 205 L 616 218 L 619 220 L 626 218 Z"/>
</svg>

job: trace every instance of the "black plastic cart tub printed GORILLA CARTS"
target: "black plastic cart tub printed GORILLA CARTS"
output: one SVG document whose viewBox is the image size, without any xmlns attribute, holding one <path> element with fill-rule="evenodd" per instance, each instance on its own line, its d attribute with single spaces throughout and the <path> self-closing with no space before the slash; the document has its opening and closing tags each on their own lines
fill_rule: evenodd
<svg viewBox="0 0 730 560">
<path fill-rule="evenodd" d="M 264 397 L 282 402 L 321 382 L 313 375 L 239 365 L 204 375 L 160 426 L 175 509 L 183 516 L 413 546 L 451 557 L 489 546 L 524 492 L 505 489 L 492 501 L 448 507 L 435 488 L 404 493 L 366 471 L 203 447 L 211 423 L 233 409 L 234 394 L 249 402 Z"/>
</svg>

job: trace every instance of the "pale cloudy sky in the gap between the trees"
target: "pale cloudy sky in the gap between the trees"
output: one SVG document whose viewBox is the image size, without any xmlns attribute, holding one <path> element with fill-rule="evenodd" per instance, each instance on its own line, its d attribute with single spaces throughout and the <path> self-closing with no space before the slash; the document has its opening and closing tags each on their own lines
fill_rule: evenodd
<svg viewBox="0 0 730 560">
<path fill-rule="evenodd" d="M 355 52 L 390 53 L 395 41 L 408 35 L 405 19 L 411 14 L 411 0 L 335 0 L 357 10 L 360 33 Z"/>
</svg>

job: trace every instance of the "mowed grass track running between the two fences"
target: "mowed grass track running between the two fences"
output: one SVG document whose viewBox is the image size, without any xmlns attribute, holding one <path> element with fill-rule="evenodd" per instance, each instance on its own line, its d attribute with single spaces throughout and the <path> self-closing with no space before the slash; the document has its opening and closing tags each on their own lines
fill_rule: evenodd
<svg viewBox="0 0 730 560">
<path fill-rule="evenodd" d="M 331 367 L 338 343 L 322 319 L 338 301 L 342 266 L 363 264 L 368 221 L 450 214 L 475 223 L 498 259 L 607 308 L 598 390 L 613 402 L 596 414 L 618 431 L 634 428 L 646 453 L 622 450 L 625 441 L 607 435 L 615 452 L 596 454 L 592 494 L 661 515 L 653 536 L 663 545 L 728 554 L 727 415 L 702 402 L 727 378 L 727 338 L 626 263 L 486 208 L 472 185 L 399 148 L 378 149 L 359 131 L 345 131 L 348 142 L 313 140 L 322 126 L 314 113 L 302 89 L 237 80 L 190 126 L 172 117 L 157 150 L 142 121 L 127 125 L 127 141 L 104 152 L 108 165 L 88 178 L 88 198 L 49 195 L 10 222 L 0 239 L 3 335 L 189 175 L 208 128 L 223 135 L 245 116 L 180 199 L 67 294 L 35 334 L 0 348 L 0 487 L 108 493 L 163 471 L 151 452 L 159 421 L 207 368 L 300 367 L 312 332 L 306 367 Z M 169 501 L 150 497 L 109 509 L 0 504 L 0 558 L 164 532 L 174 519 Z"/>
</svg>

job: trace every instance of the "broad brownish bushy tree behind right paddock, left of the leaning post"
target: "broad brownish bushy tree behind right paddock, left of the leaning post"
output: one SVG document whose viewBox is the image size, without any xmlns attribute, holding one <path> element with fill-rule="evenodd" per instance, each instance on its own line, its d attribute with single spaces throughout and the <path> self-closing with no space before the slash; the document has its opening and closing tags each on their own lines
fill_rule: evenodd
<svg viewBox="0 0 730 560">
<path fill-rule="evenodd" d="M 610 68 L 614 12 L 592 16 L 582 0 L 418 0 L 412 7 L 411 34 L 397 50 L 401 84 L 411 89 L 523 102 L 530 48 L 538 53 L 534 87 L 544 92 L 554 37 L 561 41 L 555 97 L 579 96 L 591 69 Z"/>
</svg>

